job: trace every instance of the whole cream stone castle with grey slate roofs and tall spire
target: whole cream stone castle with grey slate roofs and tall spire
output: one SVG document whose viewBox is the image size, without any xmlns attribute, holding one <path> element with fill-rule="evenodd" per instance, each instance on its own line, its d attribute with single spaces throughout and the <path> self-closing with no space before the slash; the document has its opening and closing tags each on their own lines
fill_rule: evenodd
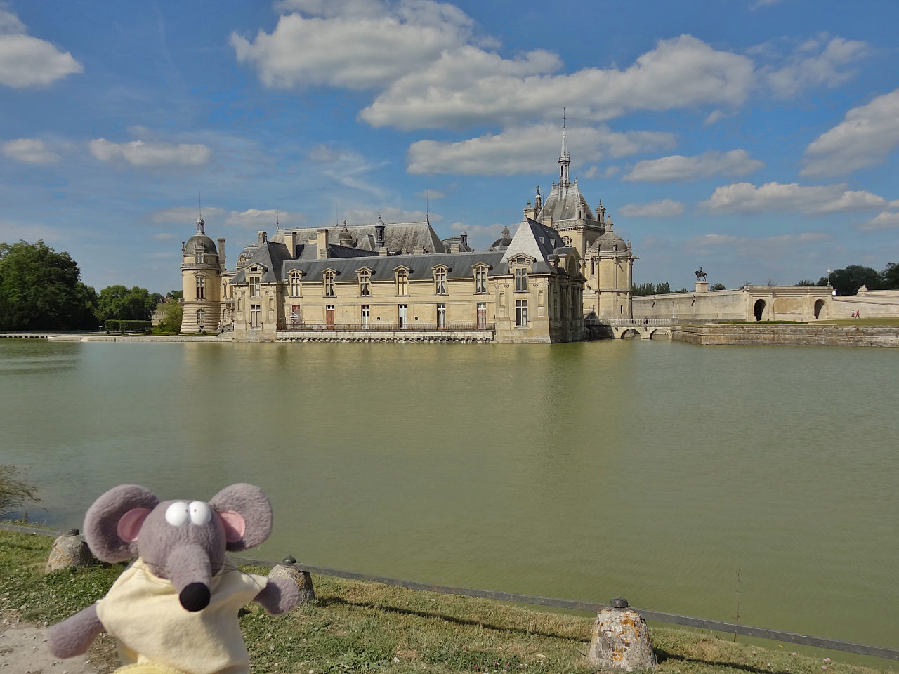
<svg viewBox="0 0 899 674">
<path fill-rule="evenodd" d="M 486 251 L 442 240 L 430 222 L 259 232 L 227 269 L 225 239 L 202 217 L 182 244 L 183 333 L 233 331 L 240 341 L 557 342 L 587 336 L 584 318 L 630 318 L 636 257 L 596 215 L 570 164 L 537 190 L 514 235 Z"/>
</svg>

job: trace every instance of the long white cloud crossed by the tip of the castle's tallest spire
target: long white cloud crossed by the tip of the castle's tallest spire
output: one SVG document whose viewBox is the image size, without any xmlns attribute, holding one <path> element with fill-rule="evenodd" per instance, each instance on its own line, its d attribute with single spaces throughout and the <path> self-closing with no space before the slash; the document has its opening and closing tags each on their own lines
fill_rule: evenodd
<svg viewBox="0 0 899 674">
<path fill-rule="evenodd" d="M 675 137 L 658 131 L 616 132 L 605 125 L 567 130 L 568 148 L 575 161 L 598 160 L 602 155 L 633 155 L 658 147 L 672 147 Z M 561 147 L 554 124 L 513 127 L 503 132 L 457 143 L 418 140 L 406 155 L 409 173 L 515 175 L 546 172 Z"/>
</svg>

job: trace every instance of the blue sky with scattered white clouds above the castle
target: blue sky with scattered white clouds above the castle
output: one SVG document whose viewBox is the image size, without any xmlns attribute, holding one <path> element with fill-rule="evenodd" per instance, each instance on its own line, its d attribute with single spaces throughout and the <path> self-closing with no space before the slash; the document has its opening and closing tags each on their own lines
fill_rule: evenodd
<svg viewBox="0 0 899 674">
<path fill-rule="evenodd" d="M 485 248 L 571 172 L 635 280 L 899 262 L 895 0 L 0 3 L 0 241 L 180 288 L 202 194 L 258 229 L 423 219 Z"/>
</svg>

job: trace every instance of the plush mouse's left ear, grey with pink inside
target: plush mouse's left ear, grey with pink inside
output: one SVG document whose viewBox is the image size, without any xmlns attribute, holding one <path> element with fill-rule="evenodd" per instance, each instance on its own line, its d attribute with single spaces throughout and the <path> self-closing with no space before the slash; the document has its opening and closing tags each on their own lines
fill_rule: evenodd
<svg viewBox="0 0 899 674">
<path fill-rule="evenodd" d="M 103 562 L 138 556 L 138 533 L 159 500 L 137 484 L 121 484 L 104 493 L 85 515 L 85 540 Z"/>
</svg>

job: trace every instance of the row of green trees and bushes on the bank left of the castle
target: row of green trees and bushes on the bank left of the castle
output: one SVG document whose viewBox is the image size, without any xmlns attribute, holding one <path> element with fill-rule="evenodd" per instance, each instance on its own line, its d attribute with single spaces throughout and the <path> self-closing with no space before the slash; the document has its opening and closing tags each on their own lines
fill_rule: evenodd
<svg viewBox="0 0 899 674">
<path fill-rule="evenodd" d="M 108 286 L 97 294 L 82 282 L 68 253 L 43 241 L 0 244 L 0 330 L 84 330 L 110 319 L 148 321 L 161 299 L 138 286 Z M 174 331 L 181 307 L 177 300 L 171 304 L 166 318 Z"/>
</svg>

